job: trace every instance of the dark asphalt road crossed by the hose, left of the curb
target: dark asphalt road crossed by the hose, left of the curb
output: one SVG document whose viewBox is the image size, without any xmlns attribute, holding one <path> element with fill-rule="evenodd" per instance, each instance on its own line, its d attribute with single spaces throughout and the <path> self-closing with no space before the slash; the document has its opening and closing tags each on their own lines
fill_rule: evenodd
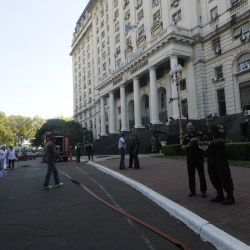
<svg viewBox="0 0 250 250">
<path fill-rule="evenodd" d="M 17 165 L 0 179 L 1 250 L 179 249 L 106 207 L 62 174 L 63 187 L 42 190 L 46 166 L 39 160 Z M 214 249 L 143 195 L 95 168 L 76 163 L 58 163 L 57 168 L 191 249 Z"/>
</svg>

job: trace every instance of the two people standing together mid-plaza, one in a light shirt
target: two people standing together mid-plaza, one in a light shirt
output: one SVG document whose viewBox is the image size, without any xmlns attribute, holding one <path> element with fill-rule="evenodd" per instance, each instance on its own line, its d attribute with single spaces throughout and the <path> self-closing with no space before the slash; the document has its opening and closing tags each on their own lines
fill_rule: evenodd
<svg viewBox="0 0 250 250">
<path fill-rule="evenodd" d="M 129 151 L 129 168 L 132 168 L 134 166 L 134 169 L 140 169 L 140 162 L 138 158 L 139 153 L 139 139 L 137 135 L 130 136 L 128 140 L 128 151 Z M 122 133 L 121 137 L 118 141 L 118 149 L 120 152 L 120 170 L 126 169 L 125 167 L 125 153 L 127 149 L 127 141 L 125 139 L 125 135 Z"/>
</svg>

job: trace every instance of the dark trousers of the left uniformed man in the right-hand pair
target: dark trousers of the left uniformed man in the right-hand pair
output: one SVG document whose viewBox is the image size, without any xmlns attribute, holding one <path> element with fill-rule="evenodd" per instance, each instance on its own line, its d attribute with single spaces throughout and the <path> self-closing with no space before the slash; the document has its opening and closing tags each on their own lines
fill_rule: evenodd
<svg viewBox="0 0 250 250">
<path fill-rule="evenodd" d="M 200 191 L 201 193 L 205 193 L 207 191 L 207 183 L 204 173 L 203 158 L 187 159 L 187 168 L 190 192 L 192 194 L 196 193 L 195 172 L 197 170 L 200 179 Z"/>
</svg>

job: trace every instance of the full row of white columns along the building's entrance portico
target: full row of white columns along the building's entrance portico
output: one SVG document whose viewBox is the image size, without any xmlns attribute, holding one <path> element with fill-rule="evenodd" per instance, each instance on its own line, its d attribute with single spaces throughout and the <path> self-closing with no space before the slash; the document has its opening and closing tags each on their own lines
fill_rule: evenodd
<svg viewBox="0 0 250 250">
<path fill-rule="evenodd" d="M 170 58 L 171 69 L 174 69 L 178 64 L 177 56 L 172 56 Z M 156 84 L 156 69 L 154 67 L 149 69 L 150 78 L 150 93 L 149 93 L 149 108 L 150 108 L 150 123 L 151 124 L 161 124 L 159 120 L 159 98 Z M 167 93 L 171 93 L 172 97 L 177 97 L 177 87 L 174 81 L 171 81 L 171 87 L 168 89 Z M 141 116 L 141 104 L 140 104 L 140 86 L 139 79 L 137 77 L 133 78 L 133 97 L 134 97 L 134 117 L 135 117 L 135 128 L 143 128 L 142 116 Z M 169 94 L 168 94 L 169 95 Z M 169 98 L 170 96 L 168 96 Z M 120 101 L 121 101 L 121 130 L 128 131 L 129 127 L 127 124 L 127 105 L 126 105 L 126 91 L 125 86 L 120 86 Z M 106 123 L 105 123 L 105 104 L 104 97 L 100 98 L 100 116 L 101 116 L 101 135 L 106 135 Z M 115 131 L 115 98 L 114 92 L 109 93 L 109 133 L 114 134 Z M 173 118 L 178 118 L 179 110 L 178 103 L 172 102 L 171 110 L 168 110 L 169 114 Z"/>
</svg>

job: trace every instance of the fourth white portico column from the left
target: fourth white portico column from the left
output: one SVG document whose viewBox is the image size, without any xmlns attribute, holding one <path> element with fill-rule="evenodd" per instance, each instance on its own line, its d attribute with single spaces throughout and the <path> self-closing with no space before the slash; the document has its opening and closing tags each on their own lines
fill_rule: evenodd
<svg viewBox="0 0 250 250">
<path fill-rule="evenodd" d="M 135 117 L 135 128 L 143 128 L 141 119 L 141 102 L 140 102 L 140 86 L 139 79 L 133 79 L 134 89 L 134 117 Z"/>
</svg>

